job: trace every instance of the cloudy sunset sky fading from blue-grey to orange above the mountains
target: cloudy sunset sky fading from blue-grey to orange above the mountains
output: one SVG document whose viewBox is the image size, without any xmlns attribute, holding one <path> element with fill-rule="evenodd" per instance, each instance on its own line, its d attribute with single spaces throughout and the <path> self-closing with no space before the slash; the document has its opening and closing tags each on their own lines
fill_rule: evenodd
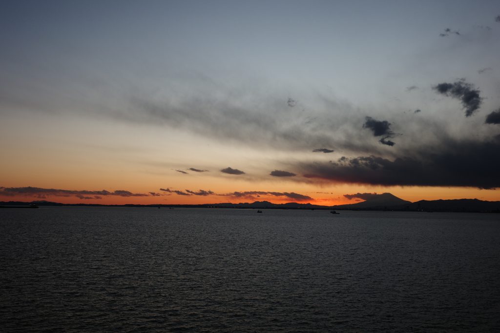
<svg viewBox="0 0 500 333">
<path fill-rule="evenodd" d="M 500 200 L 500 3 L 3 1 L 0 200 Z"/>
</svg>

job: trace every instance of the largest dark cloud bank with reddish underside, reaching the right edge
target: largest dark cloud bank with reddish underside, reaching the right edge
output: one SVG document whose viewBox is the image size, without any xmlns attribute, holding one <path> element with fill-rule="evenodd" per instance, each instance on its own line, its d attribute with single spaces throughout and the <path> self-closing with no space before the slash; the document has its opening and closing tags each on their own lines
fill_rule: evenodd
<svg viewBox="0 0 500 333">
<path fill-rule="evenodd" d="M 304 177 L 322 182 L 381 186 L 500 187 L 500 140 L 452 141 L 421 147 L 406 156 L 341 157 L 335 162 L 304 163 Z"/>
</svg>

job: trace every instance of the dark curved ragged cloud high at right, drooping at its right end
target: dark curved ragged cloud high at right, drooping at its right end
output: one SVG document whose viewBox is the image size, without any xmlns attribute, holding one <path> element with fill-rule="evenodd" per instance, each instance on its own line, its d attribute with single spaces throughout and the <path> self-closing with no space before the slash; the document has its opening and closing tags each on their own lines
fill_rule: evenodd
<svg viewBox="0 0 500 333">
<path fill-rule="evenodd" d="M 453 83 L 439 83 L 432 89 L 441 95 L 460 99 L 466 117 L 470 117 L 481 106 L 482 98 L 479 96 L 479 89 L 475 89 L 473 84 L 463 79 Z"/>
</svg>

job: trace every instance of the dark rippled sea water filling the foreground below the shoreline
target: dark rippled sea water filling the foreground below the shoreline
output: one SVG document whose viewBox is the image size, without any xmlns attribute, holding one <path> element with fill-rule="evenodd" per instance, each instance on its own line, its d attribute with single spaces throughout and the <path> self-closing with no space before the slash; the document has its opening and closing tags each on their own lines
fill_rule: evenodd
<svg viewBox="0 0 500 333">
<path fill-rule="evenodd" d="M 497 332 L 499 220 L 3 209 L 0 330 Z"/>
</svg>

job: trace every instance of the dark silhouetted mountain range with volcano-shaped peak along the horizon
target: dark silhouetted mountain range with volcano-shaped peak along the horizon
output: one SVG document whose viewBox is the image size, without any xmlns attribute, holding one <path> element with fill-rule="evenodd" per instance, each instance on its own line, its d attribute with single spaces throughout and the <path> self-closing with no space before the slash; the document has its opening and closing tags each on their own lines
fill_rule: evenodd
<svg viewBox="0 0 500 333">
<path fill-rule="evenodd" d="M 334 209 L 334 210 L 394 210 L 394 211 L 431 211 L 431 212 L 495 212 L 500 213 L 500 201 L 482 201 L 478 199 L 456 200 L 420 200 L 410 202 L 400 199 L 390 193 L 373 194 L 367 200 L 355 204 L 320 206 L 310 203 L 301 204 L 289 202 L 273 204 L 268 201 L 255 201 L 252 203 L 230 202 L 201 205 L 99 205 L 99 204 L 61 204 L 50 201 L 31 202 L 0 202 L 0 206 L 27 206 L 35 203 L 38 206 L 111 206 L 111 207 L 186 207 L 186 208 L 254 208 L 254 209 Z"/>
</svg>

